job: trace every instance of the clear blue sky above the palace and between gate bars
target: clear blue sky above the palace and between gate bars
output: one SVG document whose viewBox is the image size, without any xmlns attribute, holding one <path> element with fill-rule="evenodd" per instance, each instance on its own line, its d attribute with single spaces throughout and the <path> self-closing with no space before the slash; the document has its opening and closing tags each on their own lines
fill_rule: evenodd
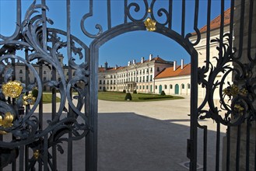
<svg viewBox="0 0 256 171">
<path fill-rule="evenodd" d="M 22 1 L 22 13 L 26 12 L 26 8 L 32 3 L 31 0 Z M 47 6 L 49 11 L 47 12 L 47 17 L 54 21 L 53 26 L 49 27 L 58 28 L 60 30 L 66 30 L 65 21 L 65 1 L 63 0 L 48 0 Z M 143 10 L 142 1 L 128 1 L 128 2 L 138 2 Z M 148 1 L 150 4 L 150 0 Z M 173 11 L 173 30 L 181 33 L 181 0 L 174 0 L 174 11 Z M 207 12 L 207 2 L 202 0 L 199 3 L 199 18 L 198 18 L 198 28 L 205 26 L 206 23 L 206 12 Z M 37 1 L 40 3 L 40 1 Z M 230 6 L 230 0 L 225 1 L 225 9 Z M 155 10 L 163 7 L 168 9 L 168 1 L 161 0 L 156 1 Z M 111 1 L 111 20 L 112 26 L 117 26 L 121 24 L 124 20 L 124 2 L 121 0 Z M 192 33 L 194 25 L 194 9 L 195 1 L 186 1 L 186 26 L 185 33 Z M 145 9 L 144 9 L 145 10 Z M 92 39 L 86 37 L 80 28 L 80 20 L 82 16 L 89 12 L 89 1 L 82 0 L 72 0 L 71 1 L 71 30 L 75 37 L 79 37 L 80 40 L 85 42 L 89 46 Z M 156 12 L 155 12 L 156 13 Z M 220 0 L 212 0 L 212 15 L 211 18 L 214 19 L 220 13 Z M 132 12 L 133 16 L 142 16 L 142 12 Z M 155 14 L 156 16 L 156 14 Z M 23 17 L 22 17 L 23 19 Z M 165 17 L 157 17 L 160 22 L 163 22 Z M 89 18 L 85 22 L 86 29 L 90 33 L 97 33 L 94 28 L 96 23 L 103 26 L 103 31 L 107 30 L 107 1 L 106 0 L 96 0 L 93 2 L 93 17 Z M 12 35 L 16 26 L 16 1 L 14 0 L 0 0 L 0 33 L 4 36 Z M 135 59 L 140 61 L 142 57 L 146 59 L 149 58 L 149 54 L 153 54 L 153 57 L 159 55 L 161 58 L 167 61 L 177 61 L 180 64 L 181 58 L 184 58 L 185 63 L 190 62 L 190 57 L 183 48 L 178 45 L 174 40 L 170 40 L 168 37 L 164 37 L 159 33 L 152 33 L 148 31 L 136 31 L 132 33 L 124 33 L 121 36 L 114 37 L 114 39 L 109 40 L 106 44 L 100 47 L 100 61 L 99 65 L 103 65 L 105 61 L 109 63 L 110 66 L 114 65 L 127 65 L 128 61 Z"/>
</svg>

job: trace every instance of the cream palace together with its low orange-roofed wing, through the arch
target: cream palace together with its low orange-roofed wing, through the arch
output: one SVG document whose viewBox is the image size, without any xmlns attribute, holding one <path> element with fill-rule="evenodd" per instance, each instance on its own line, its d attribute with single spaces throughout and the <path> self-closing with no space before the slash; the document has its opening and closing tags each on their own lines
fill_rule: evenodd
<svg viewBox="0 0 256 171">
<path fill-rule="evenodd" d="M 190 64 L 177 66 L 177 61 L 165 61 L 159 56 L 149 59 L 142 57 L 140 62 L 128 61 L 127 66 L 110 68 L 107 62 L 99 68 L 99 91 L 122 92 L 128 91 L 144 93 L 189 94 Z M 165 78 L 171 77 L 167 82 Z M 177 82 L 179 77 L 179 82 Z M 181 91 L 183 90 L 183 91 Z"/>
</svg>

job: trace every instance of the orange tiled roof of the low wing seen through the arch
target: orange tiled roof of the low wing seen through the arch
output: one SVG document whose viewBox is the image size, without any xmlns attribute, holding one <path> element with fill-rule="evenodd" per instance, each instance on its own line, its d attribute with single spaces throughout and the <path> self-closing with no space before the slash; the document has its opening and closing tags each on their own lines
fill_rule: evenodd
<svg viewBox="0 0 256 171">
<path fill-rule="evenodd" d="M 163 72 L 160 72 L 159 75 L 156 75 L 155 79 L 163 79 L 167 77 L 177 77 L 181 75 L 190 75 L 191 74 L 191 64 L 184 65 L 184 68 L 181 69 L 181 66 L 178 66 L 174 71 L 174 67 L 165 68 Z"/>
</svg>

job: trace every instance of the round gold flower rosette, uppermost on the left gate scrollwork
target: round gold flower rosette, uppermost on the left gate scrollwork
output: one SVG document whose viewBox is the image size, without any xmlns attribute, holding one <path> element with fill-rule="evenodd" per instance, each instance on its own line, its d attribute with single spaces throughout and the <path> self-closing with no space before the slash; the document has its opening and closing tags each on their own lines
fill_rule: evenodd
<svg viewBox="0 0 256 171">
<path fill-rule="evenodd" d="M 19 81 L 9 81 L 6 84 L 2 85 L 2 93 L 5 96 L 16 98 L 16 97 L 19 97 L 22 91 L 23 91 L 23 86 Z"/>
</svg>

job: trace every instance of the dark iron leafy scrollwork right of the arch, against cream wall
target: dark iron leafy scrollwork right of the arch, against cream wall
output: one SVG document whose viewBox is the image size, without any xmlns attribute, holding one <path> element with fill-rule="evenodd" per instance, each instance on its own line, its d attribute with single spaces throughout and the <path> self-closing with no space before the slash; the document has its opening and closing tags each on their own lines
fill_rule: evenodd
<svg viewBox="0 0 256 171">
<path fill-rule="evenodd" d="M 216 47 L 219 56 L 214 57 L 216 65 L 211 61 L 205 61 L 205 66 L 198 68 L 198 84 L 206 89 L 205 99 L 198 107 L 198 119 L 212 118 L 219 124 L 226 126 L 238 126 L 247 119 L 249 122 L 256 119 L 255 106 L 255 60 L 250 64 L 243 64 L 237 49 L 230 46 L 230 33 L 224 35 L 226 43 L 216 38 L 212 43 L 223 44 Z M 207 64 L 208 63 L 208 64 Z M 209 65 L 209 68 L 206 66 Z M 217 75 L 223 74 L 219 80 Z M 208 75 L 208 76 L 207 76 Z M 233 75 L 233 83 L 226 82 L 228 75 Z M 219 104 L 214 103 L 214 93 L 219 94 Z M 204 107 L 208 105 L 209 110 Z"/>
</svg>

